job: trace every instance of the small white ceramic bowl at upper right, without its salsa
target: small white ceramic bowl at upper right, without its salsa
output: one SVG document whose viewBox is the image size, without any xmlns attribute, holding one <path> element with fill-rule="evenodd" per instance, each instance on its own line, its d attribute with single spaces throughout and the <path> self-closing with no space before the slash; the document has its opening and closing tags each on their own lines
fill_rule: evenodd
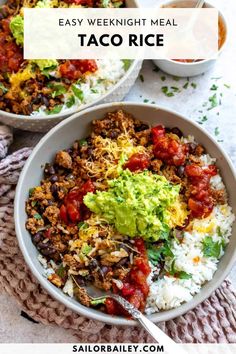
<svg viewBox="0 0 236 354">
<path fill-rule="evenodd" d="M 178 5 L 178 7 L 194 7 L 196 2 L 197 0 L 171 0 L 162 3 L 161 6 Z M 207 8 L 214 7 L 208 2 L 205 2 L 204 6 Z M 221 20 L 226 29 L 226 37 L 223 45 L 221 46 L 218 52 L 218 56 L 224 50 L 225 44 L 227 42 L 227 23 L 225 17 L 220 11 L 219 11 L 219 16 L 221 17 Z M 201 75 L 204 72 L 210 70 L 215 65 L 216 61 L 217 59 L 208 59 L 208 60 L 202 60 L 194 63 L 182 63 L 174 60 L 164 60 L 164 59 L 153 60 L 155 65 L 157 65 L 162 71 L 166 72 L 169 75 L 178 76 L 178 77 L 192 77 L 192 76 Z"/>
</svg>

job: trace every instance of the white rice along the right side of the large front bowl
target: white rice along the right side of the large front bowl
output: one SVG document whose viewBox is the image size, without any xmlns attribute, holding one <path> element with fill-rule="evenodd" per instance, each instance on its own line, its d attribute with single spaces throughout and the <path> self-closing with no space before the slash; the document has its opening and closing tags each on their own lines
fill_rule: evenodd
<svg viewBox="0 0 236 354">
<path fill-rule="evenodd" d="M 193 141 L 189 139 L 188 141 Z M 209 155 L 202 156 L 204 165 L 214 164 L 216 159 Z M 211 178 L 211 185 L 215 189 L 225 189 L 220 175 Z M 171 242 L 174 254 L 175 268 L 190 274 L 191 279 L 178 279 L 174 276 L 164 276 L 152 281 L 155 268 L 148 278 L 150 292 L 147 299 L 146 313 L 151 314 L 160 310 L 168 310 L 190 301 L 201 290 L 203 284 L 213 278 L 219 260 L 214 257 L 204 257 L 202 241 L 206 236 L 212 237 L 214 242 L 229 242 L 232 224 L 235 216 L 228 204 L 217 205 L 211 215 L 205 219 L 195 219 L 192 222 L 192 231 L 184 232 L 183 242 Z M 220 258 L 224 251 L 221 248 Z M 197 260 L 197 262 L 196 262 Z M 173 259 L 166 259 L 165 267 L 170 269 Z"/>
</svg>

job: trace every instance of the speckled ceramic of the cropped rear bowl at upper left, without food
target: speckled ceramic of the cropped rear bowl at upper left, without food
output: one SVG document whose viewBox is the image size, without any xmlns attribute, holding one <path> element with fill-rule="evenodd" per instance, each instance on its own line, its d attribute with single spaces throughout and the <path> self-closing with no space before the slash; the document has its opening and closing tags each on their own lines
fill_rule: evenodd
<svg viewBox="0 0 236 354">
<path fill-rule="evenodd" d="M 0 5 L 4 4 L 6 0 L 0 0 Z M 126 0 L 126 6 L 131 8 L 138 7 L 136 0 Z M 127 70 L 125 75 L 111 88 L 107 93 L 92 103 L 88 103 L 81 107 L 75 108 L 74 112 L 69 113 L 58 113 L 52 114 L 50 116 L 27 116 L 15 113 L 8 113 L 0 110 L 0 122 L 10 125 L 14 128 L 19 128 L 22 130 L 28 130 L 32 132 L 47 132 L 49 129 L 54 127 L 61 120 L 70 116 L 71 114 L 92 107 L 97 104 L 122 101 L 125 95 L 129 92 L 133 86 L 139 71 L 142 66 L 142 61 L 134 60 L 130 68 Z"/>
</svg>

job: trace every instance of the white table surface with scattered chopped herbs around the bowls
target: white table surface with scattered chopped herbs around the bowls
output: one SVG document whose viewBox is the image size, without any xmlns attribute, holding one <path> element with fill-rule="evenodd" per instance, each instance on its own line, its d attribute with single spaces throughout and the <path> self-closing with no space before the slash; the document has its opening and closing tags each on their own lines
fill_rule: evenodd
<svg viewBox="0 0 236 354">
<path fill-rule="evenodd" d="M 139 2 L 145 7 L 160 3 L 159 0 L 139 0 Z M 202 124 L 202 127 L 220 141 L 233 163 L 236 164 L 236 1 L 212 0 L 211 3 L 224 11 L 229 24 L 229 41 L 215 68 L 203 76 L 190 79 L 189 88 L 185 90 L 182 86 L 186 83 L 186 79 L 175 81 L 171 76 L 162 72 L 153 72 L 153 63 L 146 61 L 141 71 L 144 81 L 138 78 L 125 100 L 155 102 L 173 108 L 194 121 L 199 121 L 206 115 L 207 121 Z M 165 81 L 161 80 L 162 76 L 165 76 Z M 212 78 L 215 77 L 221 79 L 213 80 Z M 192 82 L 197 85 L 196 88 L 191 86 Z M 203 105 L 215 93 L 210 90 L 213 84 L 218 86 L 216 93 L 219 97 L 222 93 L 221 105 L 207 111 L 207 107 Z M 225 85 L 229 85 L 230 88 Z M 168 98 L 161 92 L 162 86 L 176 86 L 181 88 L 181 92 Z M 215 133 L 219 134 L 216 136 Z M 28 143 L 31 139 L 35 140 L 35 135 L 18 132 L 12 149 L 24 145 L 26 136 Z M 236 267 L 231 272 L 230 279 L 236 288 Z M 20 311 L 14 299 L 0 294 L 0 342 L 75 341 L 68 331 L 56 326 L 33 324 L 21 317 Z"/>
</svg>

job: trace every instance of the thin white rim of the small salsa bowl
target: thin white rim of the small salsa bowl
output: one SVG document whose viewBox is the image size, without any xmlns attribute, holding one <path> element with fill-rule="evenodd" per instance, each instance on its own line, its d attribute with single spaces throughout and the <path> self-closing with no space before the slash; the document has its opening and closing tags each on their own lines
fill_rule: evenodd
<svg viewBox="0 0 236 354">
<path fill-rule="evenodd" d="M 161 3 L 159 6 L 163 6 L 163 5 L 168 5 L 168 4 L 171 4 L 171 3 L 178 3 L 180 1 L 187 1 L 187 0 L 166 0 L 164 1 L 163 3 Z M 191 1 L 196 1 L 197 0 L 191 0 Z M 198 61 L 198 62 L 194 62 L 194 63 L 182 63 L 182 62 L 179 62 L 179 61 L 175 61 L 173 59 L 163 59 L 165 61 L 168 61 L 170 63 L 173 63 L 173 64 L 176 64 L 176 65 L 179 65 L 179 66 L 197 66 L 197 65 L 200 65 L 200 64 L 203 64 L 203 63 L 208 63 L 209 61 L 211 60 L 217 60 L 218 57 L 220 56 L 220 54 L 223 52 L 223 50 L 225 49 L 225 46 L 228 42 L 228 24 L 227 24 L 227 21 L 226 21 L 226 17 L 224 15 L 224 13 L 222 12 L 222 10 L 219 10 L 218 7 L 214 6 L 211 2 L 209 1 L 205 1 L 205 5 L 209 6 L 209 7 L 213 7 L 214 9 L 217 9 L 218 12 L 219 12 L 219 17 L 222 18 L 223 20 L 223 23 L 224 23 L 224 26 L 225 26 L 225 41 L 224 43 L 222 44 L 222 46 L 220 47 L 220 49 L 218 50 L 218 54 L 217 54 L 217 57 L 216 58 L 210 58 L 210 59 L 203 59 L 201 61 Z"/>
</svg>

